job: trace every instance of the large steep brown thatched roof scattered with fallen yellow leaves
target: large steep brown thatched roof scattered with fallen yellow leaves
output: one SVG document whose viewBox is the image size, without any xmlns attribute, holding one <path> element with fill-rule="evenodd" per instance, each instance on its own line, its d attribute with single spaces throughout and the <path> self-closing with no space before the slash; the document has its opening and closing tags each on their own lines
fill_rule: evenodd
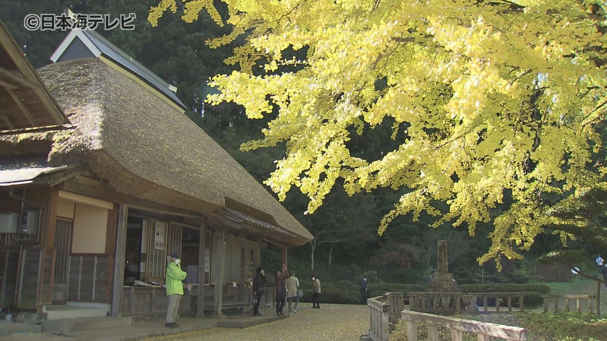
<svg viewBox="0 0 607 341">
<path fill-rule="evenodd" d="M 49 161 L 86 163 L 115 191 L 195 212 L 234 209 L 312 238 L 186 115 L 97 58 L 38 70 L 76 129 L 52 137 Z"/>
</svg>

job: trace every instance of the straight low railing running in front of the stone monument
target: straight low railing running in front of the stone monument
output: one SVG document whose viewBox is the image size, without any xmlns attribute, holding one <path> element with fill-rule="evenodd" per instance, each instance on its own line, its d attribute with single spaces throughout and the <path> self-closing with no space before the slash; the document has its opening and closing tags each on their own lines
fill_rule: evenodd
<svg viewBox="0 0 607 341">
<path fill-rule="evenodd" d="M 477 299 L 483 299 L 483 311 L 488 312 L 489 308 L 493 308 L 495 312 L 512 312 L 514 305 L 512 300 L 518 300 L 518 311 L 524 311 L 524 294 L 517 292 L 477 292 L 467 293 L 463 292 L 409 292 L 409 309 L 412 311 L 438 311 L 439 309 L 445 309 L 455 312 L 463 312 L 466 310 L 466 306 L 470 307 L 470 311 L 475 312 L 480 310 L 480 306 L 477 305 Z M 416 305 L 416 299 L 419 298 L 419 305 Z M 427 300 L 431 298 L 432 302 L 430 305 Z M 452 299 L 454 302 L 452 303 Z M 489 299 L 495 299 L 495 304 L 490 306 Z M 505 299 L 506 305 L 501 308 L 501 299 Z M 516 301 L 515 301 L 516 302 Z"/>
</svg>

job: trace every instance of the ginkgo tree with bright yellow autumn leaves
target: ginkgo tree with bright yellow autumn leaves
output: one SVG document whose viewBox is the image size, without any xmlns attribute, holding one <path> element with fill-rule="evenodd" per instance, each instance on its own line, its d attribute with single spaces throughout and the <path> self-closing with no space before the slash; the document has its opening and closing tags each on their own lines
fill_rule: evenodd
<svg viewBox="0 0 607 341">
<path fill-rule="evenodd" d="M 191 22 L 206 10 L 232 27 L 209 46 L 244 37 L 226 59 L 238 70 L 211 79 L 219 93 L 208 102 L 271 115 L 242 149 L 286 144 L 265 181 L 280 200 L 299 187 L 313 213 L 339 178 L 348 194 L 405 187 L 379 234 L 424 211 L 470 235 L 490 221 L 479 262 L 499 268 L 556 222 L 547 196 L 605 181 L 595 160 L 607 109 L 603 0 L 222 1 L 229 18 L 212 0 L 162 0 L 148 20 L 181 6 Z M 398 148 L 356 157 L 353 134 L 387 121 Z"/>
</svg>

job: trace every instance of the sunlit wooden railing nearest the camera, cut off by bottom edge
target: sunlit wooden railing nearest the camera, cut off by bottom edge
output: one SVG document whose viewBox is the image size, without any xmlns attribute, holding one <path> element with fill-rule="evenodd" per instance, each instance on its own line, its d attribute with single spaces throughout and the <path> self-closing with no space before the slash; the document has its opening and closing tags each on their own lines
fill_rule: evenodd
<svg viewBox="0 0 607 341">
<path fill-rule="evenodd" d="M 401 318 L 407 321 L 407 340 L 409 341 L 417 341 L 419 323 L 426 323 L 428 325 L 428 340 L 430 341 L 438 341 L 439 326 L 451 330 L 451 340 L 453 341 L 461 341 L 463 333 L 476 334 L 479 341 L 489 341 L 489 337 L 498 337 L 505 340 L 527 340 L 526 329 L 513 326 L 455 319 L 453 317 L 407 310 L 401 312 Z"/>
</svg>

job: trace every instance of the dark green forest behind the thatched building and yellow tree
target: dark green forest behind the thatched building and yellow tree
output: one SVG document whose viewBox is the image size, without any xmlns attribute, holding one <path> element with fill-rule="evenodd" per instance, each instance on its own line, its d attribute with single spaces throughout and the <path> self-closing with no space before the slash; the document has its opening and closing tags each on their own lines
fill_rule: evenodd
<svg viewBox="0 0 607 341">
<path fill-rule="evenodd" d="M 28 13 L 61 13 L 68 7 L 75 13 L 107 13 L 114 17 L 136 13 L 134 30 L 98 30 L 98 33 L 168 83 L 177 86 L 178 97 L 189 108 L 187 115 L 257 181 L 262 182 L 273 170 L 274 160 L 282 157 L 283 146 L 246 153 L 240 152 L 239 147 L 246 141 L 259 138 L 260 130 L 269 119 L 249 120 L 239 106 L 222 104 L 211 107 L 203 102 L 212 91 L 206 85 L 209 77 L 229 73 L 238 67 L 223 62 L 233 46 L 209 49 L 205 45 L 206 39 L 229 32 L 229 27 L 217 26 L 206 14 L 192 24 L 186 24 L 178 10 L 175 15 L 164 15 L 158 27 L 152 28 L 147 16 L 149 8 L 158 1 L 0 0 L 0 19 L 32 64 L 41 67 L 50 62 L 50 55 L 68 32 L 30 32 L 23 25 L 24 16 Z M 226 15 L 226 12 L 224 8 L 222 15 Z M 234 42 L 238 43 L 238 40 Z M 386 138 L 392 134 L 390 122 L 384 122 L 374 129 L 365 129 L 364 134 L 351 143 L 368 160 L 377 160 L 397 145 Z M 504 260 L 504 269 L 498 273 L 494 264 L 479 267 L 476 262 L 489 248 L 487 235 L 490 223 L 480 225 L 472 238 L 467 234 L 466 226 L 453 229 L 446 224 L 432 229 L 428 226 L 432 223 L 430 217 L 422 215 L 419 221 L 413 221 L 412 216 L 407 215 L 394 220 L 387 232 L 379 237 L 379 221 L 393 208 L 400 195 L 402 192 L 389 188 L 355 194 L 353 197 L 348 197 L 344 191 L 334 190 L 313 215 L 304 215 L 307 198 L 297 189 L 291 189 L 283 205 L 314 235 L 314 240 L 289 250 L 290 267 L 299 272 L 300 278 L 314 273 L 325 282 L 343 279 L 356 281 L 364 272 L 376 271 L 378 277 L 373 278 L 373 274 L 371 281 L 424 283 L 430 271 L 436 267 L 436 241 L 446 239 L 449 243 L 450 270 L 459 283 L 524 283 L 532 279 L 538 257 L 563 248 L 556 235 L 541 235 L 531 250 L 523 252 L 524 260 Z M 583 240 L 570 242 L 568 246 L 588 249 Z M 596 252 L 599 250 L 588 249 L 588 260 Z M 271 246 L 263 255 L 265 267 L 269 269 L 277 267 L 279 260 L 279 250 Z"/>
</svg>

